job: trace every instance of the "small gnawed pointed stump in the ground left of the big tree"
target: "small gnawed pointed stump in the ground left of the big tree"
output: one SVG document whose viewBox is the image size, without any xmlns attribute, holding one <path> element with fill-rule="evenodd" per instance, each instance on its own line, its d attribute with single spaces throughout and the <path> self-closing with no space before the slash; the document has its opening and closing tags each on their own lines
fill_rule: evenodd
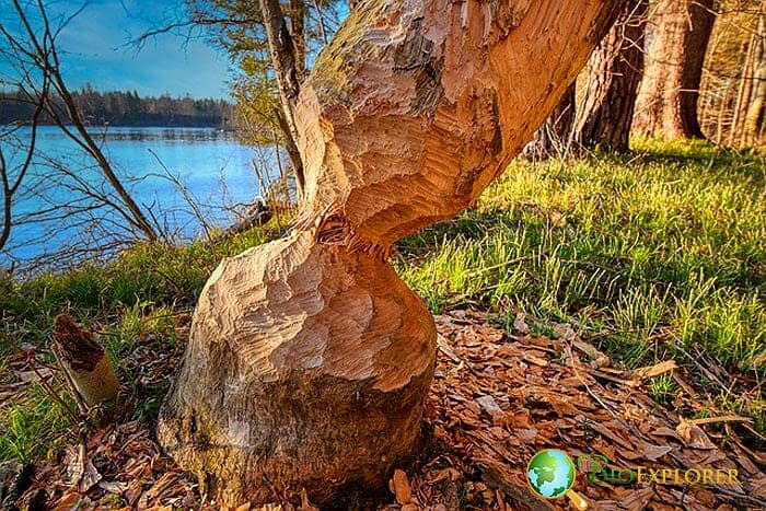
<svg viewBox="0 0 766 511">
<path fill-rule="evenodd" d="M 80 328 L 71 315 L 59 314 L 54 320 L 54 341 L 63 370 L 88 406 L 104 404 L 117 396 L 119 381 L 108 353 L 93 333 Z"/>
</svg>

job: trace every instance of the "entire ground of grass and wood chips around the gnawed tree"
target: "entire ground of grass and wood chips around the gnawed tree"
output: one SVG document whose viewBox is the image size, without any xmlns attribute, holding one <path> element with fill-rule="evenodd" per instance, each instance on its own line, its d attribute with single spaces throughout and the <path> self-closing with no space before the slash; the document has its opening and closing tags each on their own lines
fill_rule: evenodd
<svg viewBox="0 0 766 511">
<path fill-rule="evenodd" d="M 636 146 L 514 162 L 476 209 L 398 244 L 399 275 L 438 314 L 439 368 L 422 460 L 365 506 L 566 507 L 523 479 L 548 446 L 591 456 L 574 488 L 604 509 L 766 506 L 766 161 Z M 24 498 L 49 507 L 198 506 L 152 440 L 156 413 L 209 272 L 286 223 L 0 280 L 0 478 L 34 466 Z M 100 334 L 125 384 L 108 428 L 81 431 L 68 411 L 46 348 L 62 311 Z M 596 454 L 736 468 L 740 484 L 588 480 Z"/>
</svg>

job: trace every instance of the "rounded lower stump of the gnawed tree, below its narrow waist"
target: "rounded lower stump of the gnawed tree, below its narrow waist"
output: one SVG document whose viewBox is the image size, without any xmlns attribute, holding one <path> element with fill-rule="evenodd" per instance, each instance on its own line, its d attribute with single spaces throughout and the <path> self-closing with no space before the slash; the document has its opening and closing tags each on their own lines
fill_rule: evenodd
<svg viewBox="0 0 766 511">
<path fill-rule="evenodd" d="M 199 299 L 158 435 L 219 504 L 384 491 L 417 453 L 433 320 L 388 264 L 314 235 L 225 259 Z"/>
</svg>

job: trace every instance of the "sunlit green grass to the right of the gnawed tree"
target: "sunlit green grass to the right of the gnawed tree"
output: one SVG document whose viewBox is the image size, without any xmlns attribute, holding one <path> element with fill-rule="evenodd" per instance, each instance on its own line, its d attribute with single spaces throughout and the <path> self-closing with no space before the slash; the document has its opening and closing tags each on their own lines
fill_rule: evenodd
<svg viewBox="0 0 766 511">
<path fill-rule="evenodd" d="M 403 241 L 399 274 L 433 312 L 467 301 L 569 322 L 627 367 L 660 337 L 766 369 L 763 155 L 637 146 L 514 162 L 476 210 Z"/>
</svg>

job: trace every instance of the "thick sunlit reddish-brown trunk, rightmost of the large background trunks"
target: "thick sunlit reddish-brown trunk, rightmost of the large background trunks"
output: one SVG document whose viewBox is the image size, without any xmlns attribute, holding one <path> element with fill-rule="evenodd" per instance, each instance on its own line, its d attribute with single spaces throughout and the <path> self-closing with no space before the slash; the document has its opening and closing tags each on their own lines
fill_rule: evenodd
<svg viewBox="0 0 766 511">
<path fill-rule="evenodd" d="M 658 0 L 649 23 L 646 70 L 634 135 L 703 138 L 697 100 L 716 14 L 713 0 Z"/>
</svg>

